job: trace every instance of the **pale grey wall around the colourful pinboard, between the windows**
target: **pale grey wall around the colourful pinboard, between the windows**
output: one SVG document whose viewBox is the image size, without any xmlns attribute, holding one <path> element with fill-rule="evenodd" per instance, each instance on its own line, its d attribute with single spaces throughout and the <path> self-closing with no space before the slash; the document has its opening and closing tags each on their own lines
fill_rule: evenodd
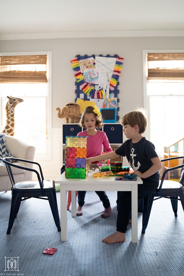
<svg viewBox="0 0 184 276">
<path fill-rule="evenodd" d="M 52 160 L 40 161 L 44 177 L 56 179 L 61 168 L 61 127 L 56 107 L 75 100 L 75 79 L 70 60 L 76 54 L 118 54 L 124 58 L 120 76 L 120 117 L 143 107 L 142 51 L 183 49 L 184 37 L 122 37 L 0 41 L 0 52 L 52 52 Z M 152 141 L 154 143 L 154 141 Z M 38 160 L 36 160 L 38 161 Z"/>
</svg>

